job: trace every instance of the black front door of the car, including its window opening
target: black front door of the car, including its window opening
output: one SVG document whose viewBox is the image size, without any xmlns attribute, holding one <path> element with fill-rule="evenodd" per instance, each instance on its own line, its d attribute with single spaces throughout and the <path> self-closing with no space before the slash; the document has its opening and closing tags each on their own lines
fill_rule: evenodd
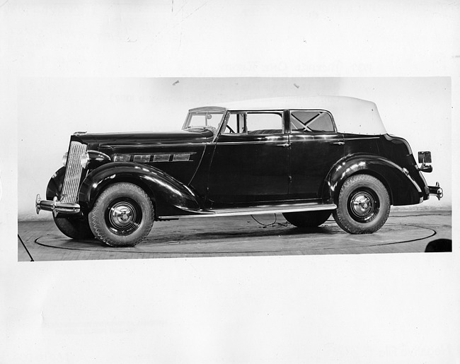
<svg viewBox="0 0 460 364">
<path fill-rule="evenodd" d="M 282 111 L 230 112 L 216 140 L 207 199 L 213 207 L 287 198 L 289 136 Z"/>
</svg>

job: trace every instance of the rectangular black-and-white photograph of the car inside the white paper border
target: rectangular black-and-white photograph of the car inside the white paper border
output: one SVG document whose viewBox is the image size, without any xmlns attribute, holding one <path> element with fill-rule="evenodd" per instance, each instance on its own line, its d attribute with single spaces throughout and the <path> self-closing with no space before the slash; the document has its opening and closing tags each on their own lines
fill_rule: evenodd
<svg viewBox="0 0 460 364">
<path fill-rule="evenodd" d="M 18 260 L 452 252 L 450 83 L 23 78 Z"/>
</svg>

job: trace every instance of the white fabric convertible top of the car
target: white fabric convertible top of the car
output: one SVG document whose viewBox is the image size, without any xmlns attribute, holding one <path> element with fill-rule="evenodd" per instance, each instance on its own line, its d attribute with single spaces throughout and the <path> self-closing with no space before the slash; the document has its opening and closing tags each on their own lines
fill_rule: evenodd
<svg viewBox="0 0 460 364">
<path fill-rule="evenodd" d="M 374 102 L 346 96 L 313 96 L 304 98 L 265 98 L 216 105 L 226 110 L 326 110 L 340 133 L 386 134 Z"/>
</svg>

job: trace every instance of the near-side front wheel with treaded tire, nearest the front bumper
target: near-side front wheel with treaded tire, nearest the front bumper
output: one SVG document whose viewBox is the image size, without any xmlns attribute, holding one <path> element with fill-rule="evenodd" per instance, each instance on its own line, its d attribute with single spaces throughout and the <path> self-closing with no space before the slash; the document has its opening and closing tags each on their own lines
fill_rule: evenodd
<svg viewBox="0 0 460 364">
<path fill-rule="evenodd" d="M 110 185 L 89 213 L 90 228 L 98 240 L 111 247 L 139 244 L 154 225 L 154 204 L 136 184 Z"/>
</svg>

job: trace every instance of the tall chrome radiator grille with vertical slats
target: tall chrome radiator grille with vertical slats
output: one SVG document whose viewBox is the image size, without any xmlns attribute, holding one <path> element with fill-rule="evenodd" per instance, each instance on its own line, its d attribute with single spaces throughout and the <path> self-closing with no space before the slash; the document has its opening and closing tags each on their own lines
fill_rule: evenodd
<svg viewBox="0 0 460 364">
<path fill-rule="evenodd" d="M 80 155 L 86 152 L 86 144 L 71 141 L 67 156 L 66 175 L 62 187 L 61 202 L 76 203 L 79 194 L 79 184 L 83 167 L 80 164 Z"/>
</svg>

